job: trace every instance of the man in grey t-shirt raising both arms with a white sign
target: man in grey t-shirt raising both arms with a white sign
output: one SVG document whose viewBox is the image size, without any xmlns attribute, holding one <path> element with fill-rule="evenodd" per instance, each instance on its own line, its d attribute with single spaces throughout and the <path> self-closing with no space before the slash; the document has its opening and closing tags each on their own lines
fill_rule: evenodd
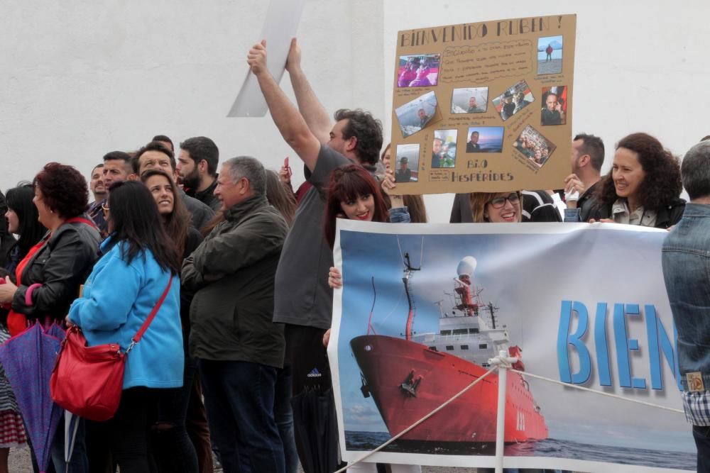
<svg viewBox="0 0 710 473">
<path fill-rule="evenodd" d="M 292 40 L 286 69 L 298 109 L 291 104 L 266 67 L 266 43 L 249 51 L 251 72 L 258 79 L 271 117 L 283 138 L 301 158 L 313 184 L 296 211 L 275 277 L 274 322 L 285 323 L 285 365 L 293 369 L 293 393 L 308 386 L 331 386 L 322 337 L 330 328 L 333 292 L 327 274 L 333 265 L 323 233 L 325 188 L 336 167 L 356 162 L 373 167 L 382 147 L 382 126 L 361 110 L 339 110 L 330 118 L 300 67 L 300 48 Z M 290 360 L 288 360 L 290 357 Z"/>
</svg>

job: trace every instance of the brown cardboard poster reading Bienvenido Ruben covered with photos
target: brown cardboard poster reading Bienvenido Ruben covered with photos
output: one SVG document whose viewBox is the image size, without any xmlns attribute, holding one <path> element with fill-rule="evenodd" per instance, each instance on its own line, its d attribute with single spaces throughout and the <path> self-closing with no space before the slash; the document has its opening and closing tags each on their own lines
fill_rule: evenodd
<svg viewBox="0 0 710 473">
<path fill-rule="evenodd" d="M 561 187 L 572 145 L 576 21 L 540 16 L 400 31 L 393 158 L 407 157 L 417 179 L 398 192 Z"/>
</svg>

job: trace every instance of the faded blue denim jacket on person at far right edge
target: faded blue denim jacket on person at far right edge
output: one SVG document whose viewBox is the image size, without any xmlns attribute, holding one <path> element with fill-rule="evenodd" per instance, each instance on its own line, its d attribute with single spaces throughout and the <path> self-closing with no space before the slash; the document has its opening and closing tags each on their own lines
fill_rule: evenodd
<svg viewBox="0 0 710 473">
<path fill-rule="evenodd" d="M 700 372 L 710 386 L 710 205 L 686 204 L 683 218 L 663 242 L 663 277 L 678 331 L 678 365 L 683 389 L 686 373 Z"/>
</svg>

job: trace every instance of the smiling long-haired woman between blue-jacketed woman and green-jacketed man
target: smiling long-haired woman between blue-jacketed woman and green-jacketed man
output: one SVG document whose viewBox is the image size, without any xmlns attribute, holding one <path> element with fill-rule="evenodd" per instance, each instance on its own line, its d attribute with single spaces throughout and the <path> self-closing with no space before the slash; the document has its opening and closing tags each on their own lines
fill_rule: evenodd
<svg viewBox="0 0 710 473">
<path fill-rule="evenodd" d="M 141 182 L 146 185 L 148 191 L 151 191 L 165 233 L 175 245 L 182 262 L 200 245 L 202 235 L 190 225 L 190 213 L 180 199 L 178 187 L 163 169 L 148 169 L 141 174 Z M 153 428 L 155 461 L 158 463 L 158 469 L 165 472 L 196 473 L 198 469 L 195 445 L 185 428 L 192 382 L 197 372 L 197 362 L 190 358 L 187 350 L 187 340 L 190 337 L 191 302 L 192 294 L 181 286 L 180 322 L 182 323 L 182 348 L 185 354 L 182 388 L 165 389 L 161 394 L 158 399 L 158 418 Z"/>
</svg>

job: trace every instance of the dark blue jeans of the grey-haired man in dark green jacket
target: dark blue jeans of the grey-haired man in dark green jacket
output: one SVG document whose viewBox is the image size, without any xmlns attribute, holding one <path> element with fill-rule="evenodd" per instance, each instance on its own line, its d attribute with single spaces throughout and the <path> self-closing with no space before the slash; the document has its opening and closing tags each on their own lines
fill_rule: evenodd
<svg viewBox="0 0 710 473">
<path fill-rule="evenodd" d="M 199 360 L 209 431 L 224 473 L 284 473 L 283 444 L 273 416 L 274 367 Z"/>
</svg>

